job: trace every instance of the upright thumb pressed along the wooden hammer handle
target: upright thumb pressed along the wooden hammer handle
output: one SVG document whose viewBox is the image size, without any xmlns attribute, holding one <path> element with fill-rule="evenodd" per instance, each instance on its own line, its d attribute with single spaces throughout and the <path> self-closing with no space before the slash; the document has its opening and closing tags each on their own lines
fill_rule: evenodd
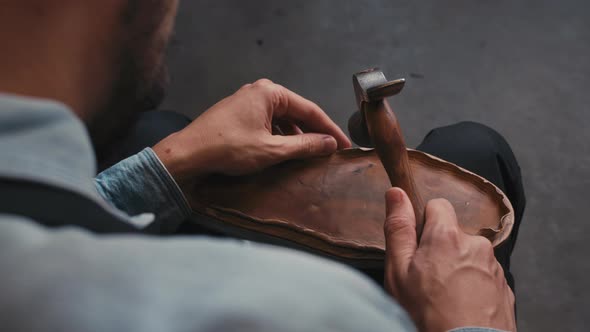
<svg viewBox="0 0 590 332">
<path fill-rule="evenodd" d="M 416 253 L 416 217 L 408 195 L 400 188 L 385 194 L 385 256 L 398 280 L 404 280 Z"/>
</svg>

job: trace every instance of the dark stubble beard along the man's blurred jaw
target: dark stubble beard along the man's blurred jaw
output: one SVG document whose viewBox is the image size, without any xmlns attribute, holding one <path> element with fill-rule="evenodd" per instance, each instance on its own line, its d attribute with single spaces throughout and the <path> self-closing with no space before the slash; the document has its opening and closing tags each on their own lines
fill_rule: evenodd
<svg viewBox="0 0 590 332">
<path fill-rule="evenodd" d="M 130 1 L 130 6 L 140 5 Z M 165 14 L 162 9 L 150 22 L 140 22 L 137 15 L 124 17 L 124 32 L 129 37 L 115 56 L 116 80 L 110 97 L 88 125 L 99 160 L 127 134 L 141 112 L 156 109 L 164 100 L 169 83 L 165 64 L 168 36 L 160 34 L 160 27 Z"/>
</svg>

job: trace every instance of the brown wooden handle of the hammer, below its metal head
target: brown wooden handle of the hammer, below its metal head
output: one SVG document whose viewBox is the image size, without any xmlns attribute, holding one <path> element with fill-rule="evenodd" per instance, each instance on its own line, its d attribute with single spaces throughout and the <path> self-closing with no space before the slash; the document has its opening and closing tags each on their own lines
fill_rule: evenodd
<svg viewBox="0 0 590 332">
<path fill-rule="evenodd" d="M 363 111 L 369 136 L 391 185 L 402 188 L 410 197 L 416 215 L 416 232 L 420 237 L 424 225 L 424 201 L 416 190 L 406 143 L 397 118 L 385 99 L 363 103 Z"/>
</svg>

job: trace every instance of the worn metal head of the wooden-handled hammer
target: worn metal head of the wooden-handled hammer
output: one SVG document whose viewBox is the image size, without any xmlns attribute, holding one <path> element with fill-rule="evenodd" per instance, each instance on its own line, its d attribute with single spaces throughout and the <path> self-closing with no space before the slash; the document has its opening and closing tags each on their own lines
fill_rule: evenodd
<svg viewBox="0 0 590 332">
<path fill-rule="evenodd" d="M 383 72 L 378 68 L 365 70 L 352 76 L 359 111 L 355 112 L 348 120 L 348 132 L 356 144 L 366 147 L 373 146 L 365 123 L 363 102 L 378 102 L 383 98 L 396 95 L 402 91 L 405 83 L 406 80 L 403 78 L 387 81 Z"/>
</svg>

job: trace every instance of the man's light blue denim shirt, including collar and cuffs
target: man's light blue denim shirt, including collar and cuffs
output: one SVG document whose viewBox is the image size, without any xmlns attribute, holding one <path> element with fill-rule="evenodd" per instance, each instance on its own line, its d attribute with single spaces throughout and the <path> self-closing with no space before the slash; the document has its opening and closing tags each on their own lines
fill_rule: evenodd
<svg viewBox="0 0 590 332">
<path fill-rule="evenodd" d="M 191 213 L 149 148 L 95 178 L 86 129 L 59 103 L 0 95 L 0 156 L 0 186 L 72 192 L 139 231 L 172 233 Z M 415 330 L 363 275 L 302 252 L 47 228 L 1 210 L 0 287 L 7 331 Z"/>
</svg>

